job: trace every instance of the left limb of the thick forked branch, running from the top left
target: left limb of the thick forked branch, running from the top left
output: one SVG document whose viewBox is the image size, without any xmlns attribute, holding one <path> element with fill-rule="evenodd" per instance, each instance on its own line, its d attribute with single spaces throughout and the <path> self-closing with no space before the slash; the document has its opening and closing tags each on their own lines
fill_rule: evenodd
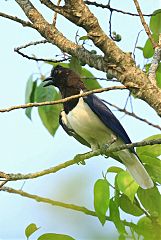
<svg viewBox="0 0 161 240">
<path fill-rule="evenodd" d="M 68 40 L 58 29 L 53 25 L 49 24 L 38 10 L 31 4 L 29 0 L 16 0 L 19 6 L 22 8 L 26 16 L 33 22 L 34 27 L 37 31 L 46 38 L 49 42 L 59 47 L 63 52 L 67 52 L 72 56 L 77 56 L 80 60 L 85 61 L 90 66 L 96 69 L 102 70 L 111 69 L 110 65 L 105 67 L 105 63 L 102 56 L 92 55 L 84 47 L 73 43 Z M 57 6 L 57 8 L 61 8 Z M 113 69 L 113 65 L 112 65 Z"/>
</svg>

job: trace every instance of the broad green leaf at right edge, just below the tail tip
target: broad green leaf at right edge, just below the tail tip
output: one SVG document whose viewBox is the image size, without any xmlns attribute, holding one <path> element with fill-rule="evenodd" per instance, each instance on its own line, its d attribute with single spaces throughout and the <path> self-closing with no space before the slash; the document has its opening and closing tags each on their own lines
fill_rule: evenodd
<svg viewBox="0 0 161 240">
<path fill-rule="evenodd" d="M 161 195 L 156 187 L 143 190 L 138 189 L 138 198 L 151 216 L 161 219 Z"/>
</svg>

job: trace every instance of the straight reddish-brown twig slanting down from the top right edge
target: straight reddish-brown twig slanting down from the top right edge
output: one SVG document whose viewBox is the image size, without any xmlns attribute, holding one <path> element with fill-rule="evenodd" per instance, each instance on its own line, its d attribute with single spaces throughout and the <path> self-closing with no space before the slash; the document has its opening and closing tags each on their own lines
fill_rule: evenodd
<svg viewBox="0 0 161 240">
<path fill-rule="evenodd" d="M 147 23 L 145 22 L 145 19 L 144 19 L 144 17 L 143 17 L 141 8 L 140 8 L 140 6 L 139 6 L 139 3 L 138 3 L 137 0 L 133 0 L 133 1 L 134 1 L 135 6 L 136 6 L 136 9 L 137 9 L 137 11 L 138 11 L 138 14 L 139 14 L 139 16 L 140 16 L 140 20 L 141 20 L 141 23 L 142 23 L 142 25 L 143 25 L 143 27 L 144 27 L 144 29 L 145 29 L 145 32 L 146 32 L 146 34 L 148 35 L 148 37 L 149 37 L 149 39 L 150 39 L 153 47 L 155 48 L 155 47 L 157 46 L 157 43 L 154 41 L 154 39 L 153 39 L 153 37 L 152 37 L 152 34 L 151 34 L 151 32 L 150 32 L 150 29 L 149 29 Z"/>
</svg>

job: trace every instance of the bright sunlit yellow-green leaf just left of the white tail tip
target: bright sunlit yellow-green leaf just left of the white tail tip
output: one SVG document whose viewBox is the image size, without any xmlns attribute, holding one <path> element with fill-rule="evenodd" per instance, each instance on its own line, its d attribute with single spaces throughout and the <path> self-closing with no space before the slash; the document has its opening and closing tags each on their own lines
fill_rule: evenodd
<svg viewBox="0 0 161 240">
<path fill-rule="evenodd" d="M 131 175 L 126 171 L 121 171 L 116 176 L 117 185 L 121 192 L 123 192 L 128 198 L 133 202 L 135 193 L 139 185 L 131 177 Z"/>
</svg>

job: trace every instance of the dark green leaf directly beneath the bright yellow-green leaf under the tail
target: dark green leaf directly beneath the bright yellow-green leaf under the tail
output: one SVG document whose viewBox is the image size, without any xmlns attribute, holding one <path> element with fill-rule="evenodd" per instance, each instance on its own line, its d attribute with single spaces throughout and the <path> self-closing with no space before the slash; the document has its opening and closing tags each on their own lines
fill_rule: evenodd
<svg viewBox="0 0 161 240">
<path fill-rule="evenodd" d="M 144 214 L 144 212 L 136 205 L 135 199 L 132 203 L 124 194 L 119 198 L 119 205 L 124 212 L 133 216 L 141 216 Z"/>
</svg>

